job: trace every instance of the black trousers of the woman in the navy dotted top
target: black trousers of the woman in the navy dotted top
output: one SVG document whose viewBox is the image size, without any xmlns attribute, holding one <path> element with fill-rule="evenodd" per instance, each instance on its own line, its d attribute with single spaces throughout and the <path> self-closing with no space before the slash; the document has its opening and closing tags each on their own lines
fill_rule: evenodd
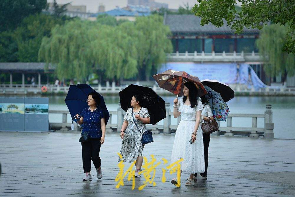
<svg viewBox="0 0 295 197">
<path fill-rule="evenodd" d="M 88 141 L 81 143 L 82 145 L 82 160 L 84 172 L 91 171 L 91 160 L 96 168 L 101 166 L 99 157 L 100 138 L 89 138 Z"/>
</svg>

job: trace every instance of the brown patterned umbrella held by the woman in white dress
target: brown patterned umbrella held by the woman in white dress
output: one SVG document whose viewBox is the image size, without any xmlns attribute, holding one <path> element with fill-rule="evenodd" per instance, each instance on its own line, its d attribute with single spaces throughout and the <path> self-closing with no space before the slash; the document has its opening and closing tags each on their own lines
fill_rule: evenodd
<svg viewBox="0 0 295 197">
<path fill-rule="evenodd" d="M 159 86 L 175 95 L 183 96 L 183 86 L 186 82 L 193 82 L 198 89 L 198 96 L 207 94 L 206 89 L 196 76 L 187 74 L 185 71 L 166 70 L 163 73 L 153 75 Z"/>
</svg>

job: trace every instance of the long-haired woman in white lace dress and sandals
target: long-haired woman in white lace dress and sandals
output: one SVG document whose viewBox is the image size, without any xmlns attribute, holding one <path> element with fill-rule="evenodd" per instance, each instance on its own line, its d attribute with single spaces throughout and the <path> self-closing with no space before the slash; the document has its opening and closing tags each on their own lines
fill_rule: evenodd
<svg viewBox="0 0 295 197">
<path fill-rule="evenodd" d="M 173 109 L 174 118 L 180 115 L 181 121 L 175 134 L 171 164 L 183 159 L 180 162 L 180 174 L 185 172 L 190 175 L 185 184 L 187 186 L 194 185 L 194 173 L 205 171 L 203 136 L 200 127 L 200 122 L 203 120 L 201 118 L 203 104 L 197 93 L 196 85 L 193 82 L 186 82 L 183 87 L 184 96 L 179 102 L 177 98 L 174 100 Z M 192 144 L 189 142 L 191 139 Z M 171 183 L 179 187 L 180 177 L 173 178 Z"/>
</svg>

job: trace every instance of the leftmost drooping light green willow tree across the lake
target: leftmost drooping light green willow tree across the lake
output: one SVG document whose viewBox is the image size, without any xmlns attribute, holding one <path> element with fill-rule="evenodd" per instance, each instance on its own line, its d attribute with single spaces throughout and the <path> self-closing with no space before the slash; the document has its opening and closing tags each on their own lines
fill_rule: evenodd
<svg viewBox="0 0 295 197">
<path fill-rule="evenodd" d="M 76 19 L 63 26 L 55 26 L 51 36 L 42 39 L 39 61 L 56 65 L 59 79 L 84 80 L 92 73 L 91 60 L 85 50 L 91 42 L 88 35 L 90 24 Z"/>
</svg>

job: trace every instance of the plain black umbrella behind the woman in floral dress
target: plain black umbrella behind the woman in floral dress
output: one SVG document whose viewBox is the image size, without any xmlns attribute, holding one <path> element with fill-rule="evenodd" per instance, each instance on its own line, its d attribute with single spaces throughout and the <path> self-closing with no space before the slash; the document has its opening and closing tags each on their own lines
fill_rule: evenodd
<svg viewBox="0 0 295 197">
<path fill-rule="evenodd" d="M 142 96 L 142 107 L 147 108 L 150 114 L 150 124 L 156 124 L 166 118 L 165 101 L 157 95 L 150 87 L 131 84 L 119 92 L 121 108 L 127 112 L 131 108 L 130 101 L 132 96 Z"/>
</svg>

